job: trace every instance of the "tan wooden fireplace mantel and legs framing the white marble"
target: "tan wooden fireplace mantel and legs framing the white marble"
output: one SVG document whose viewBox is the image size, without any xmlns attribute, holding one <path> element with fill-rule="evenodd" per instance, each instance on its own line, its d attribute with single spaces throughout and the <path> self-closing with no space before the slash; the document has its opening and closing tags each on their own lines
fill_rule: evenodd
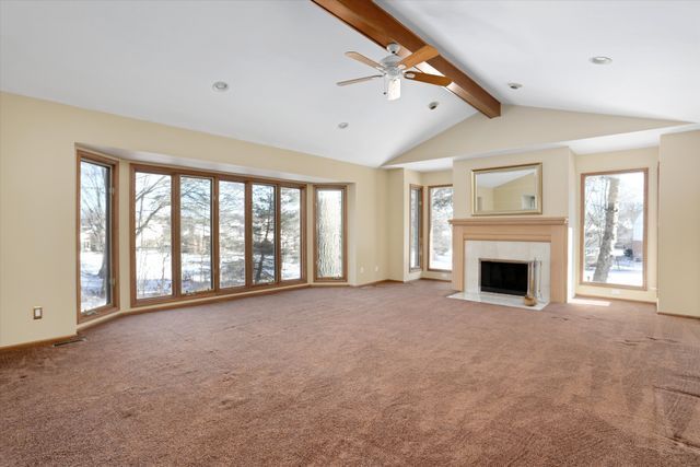
<svg viewBox="0 0 700 467">
<path fill-rule="evenodd" d="M 547 242 L 549 243 L 549 301 L 567 302 L 568 220 L 567 218 L 467 218 L 453 219 L 452 288 L 465 292 L 465 243 Z"/>
</svg>

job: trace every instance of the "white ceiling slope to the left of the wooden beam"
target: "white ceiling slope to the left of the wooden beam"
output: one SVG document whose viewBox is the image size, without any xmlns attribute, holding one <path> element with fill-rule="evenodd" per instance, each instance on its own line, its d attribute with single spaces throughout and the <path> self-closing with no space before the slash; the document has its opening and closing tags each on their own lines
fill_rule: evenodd
<svg viewBox="0 0 700 467">
<path fill-rule="evenodd" d="M 310 1 L 0 1 L 7 92 L 370 166 L 475 113 L 422 83 L 338 87 L 374 74 L 347 50 L 387 55 Z"/>
</svg>

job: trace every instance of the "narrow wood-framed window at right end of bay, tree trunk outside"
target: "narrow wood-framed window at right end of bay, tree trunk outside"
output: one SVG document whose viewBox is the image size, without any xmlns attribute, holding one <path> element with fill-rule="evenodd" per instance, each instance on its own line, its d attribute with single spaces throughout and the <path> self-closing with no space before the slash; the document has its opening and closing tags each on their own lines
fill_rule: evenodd
<svg viewBox="0 0 700 467">
<path fill-rule="evenodd" d="M 315 280 L 347 280 L 346 187 L 314 190 Z"/>
</svg>

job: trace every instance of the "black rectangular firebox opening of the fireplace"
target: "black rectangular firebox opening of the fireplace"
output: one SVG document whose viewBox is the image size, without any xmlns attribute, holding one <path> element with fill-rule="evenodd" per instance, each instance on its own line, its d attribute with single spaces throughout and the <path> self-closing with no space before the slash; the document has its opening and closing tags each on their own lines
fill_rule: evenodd
<svg viewBox="0 0 700 467">
<path fill-rule="evenodd" d="M 479 258 L 479 291 L 525 296 L 532 269 L 532 261 Z"/>
</svg>

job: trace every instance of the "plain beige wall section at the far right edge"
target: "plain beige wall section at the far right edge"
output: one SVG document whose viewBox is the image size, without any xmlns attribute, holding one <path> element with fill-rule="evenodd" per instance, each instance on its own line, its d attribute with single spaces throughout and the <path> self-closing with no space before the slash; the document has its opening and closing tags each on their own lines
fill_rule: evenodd
<svg viewBox="0 0 700 467">
<path fill-rule="evenodd" d="M 660 145 L 658 311 L 700 317 L 700 131 Z"/>
</svg>

